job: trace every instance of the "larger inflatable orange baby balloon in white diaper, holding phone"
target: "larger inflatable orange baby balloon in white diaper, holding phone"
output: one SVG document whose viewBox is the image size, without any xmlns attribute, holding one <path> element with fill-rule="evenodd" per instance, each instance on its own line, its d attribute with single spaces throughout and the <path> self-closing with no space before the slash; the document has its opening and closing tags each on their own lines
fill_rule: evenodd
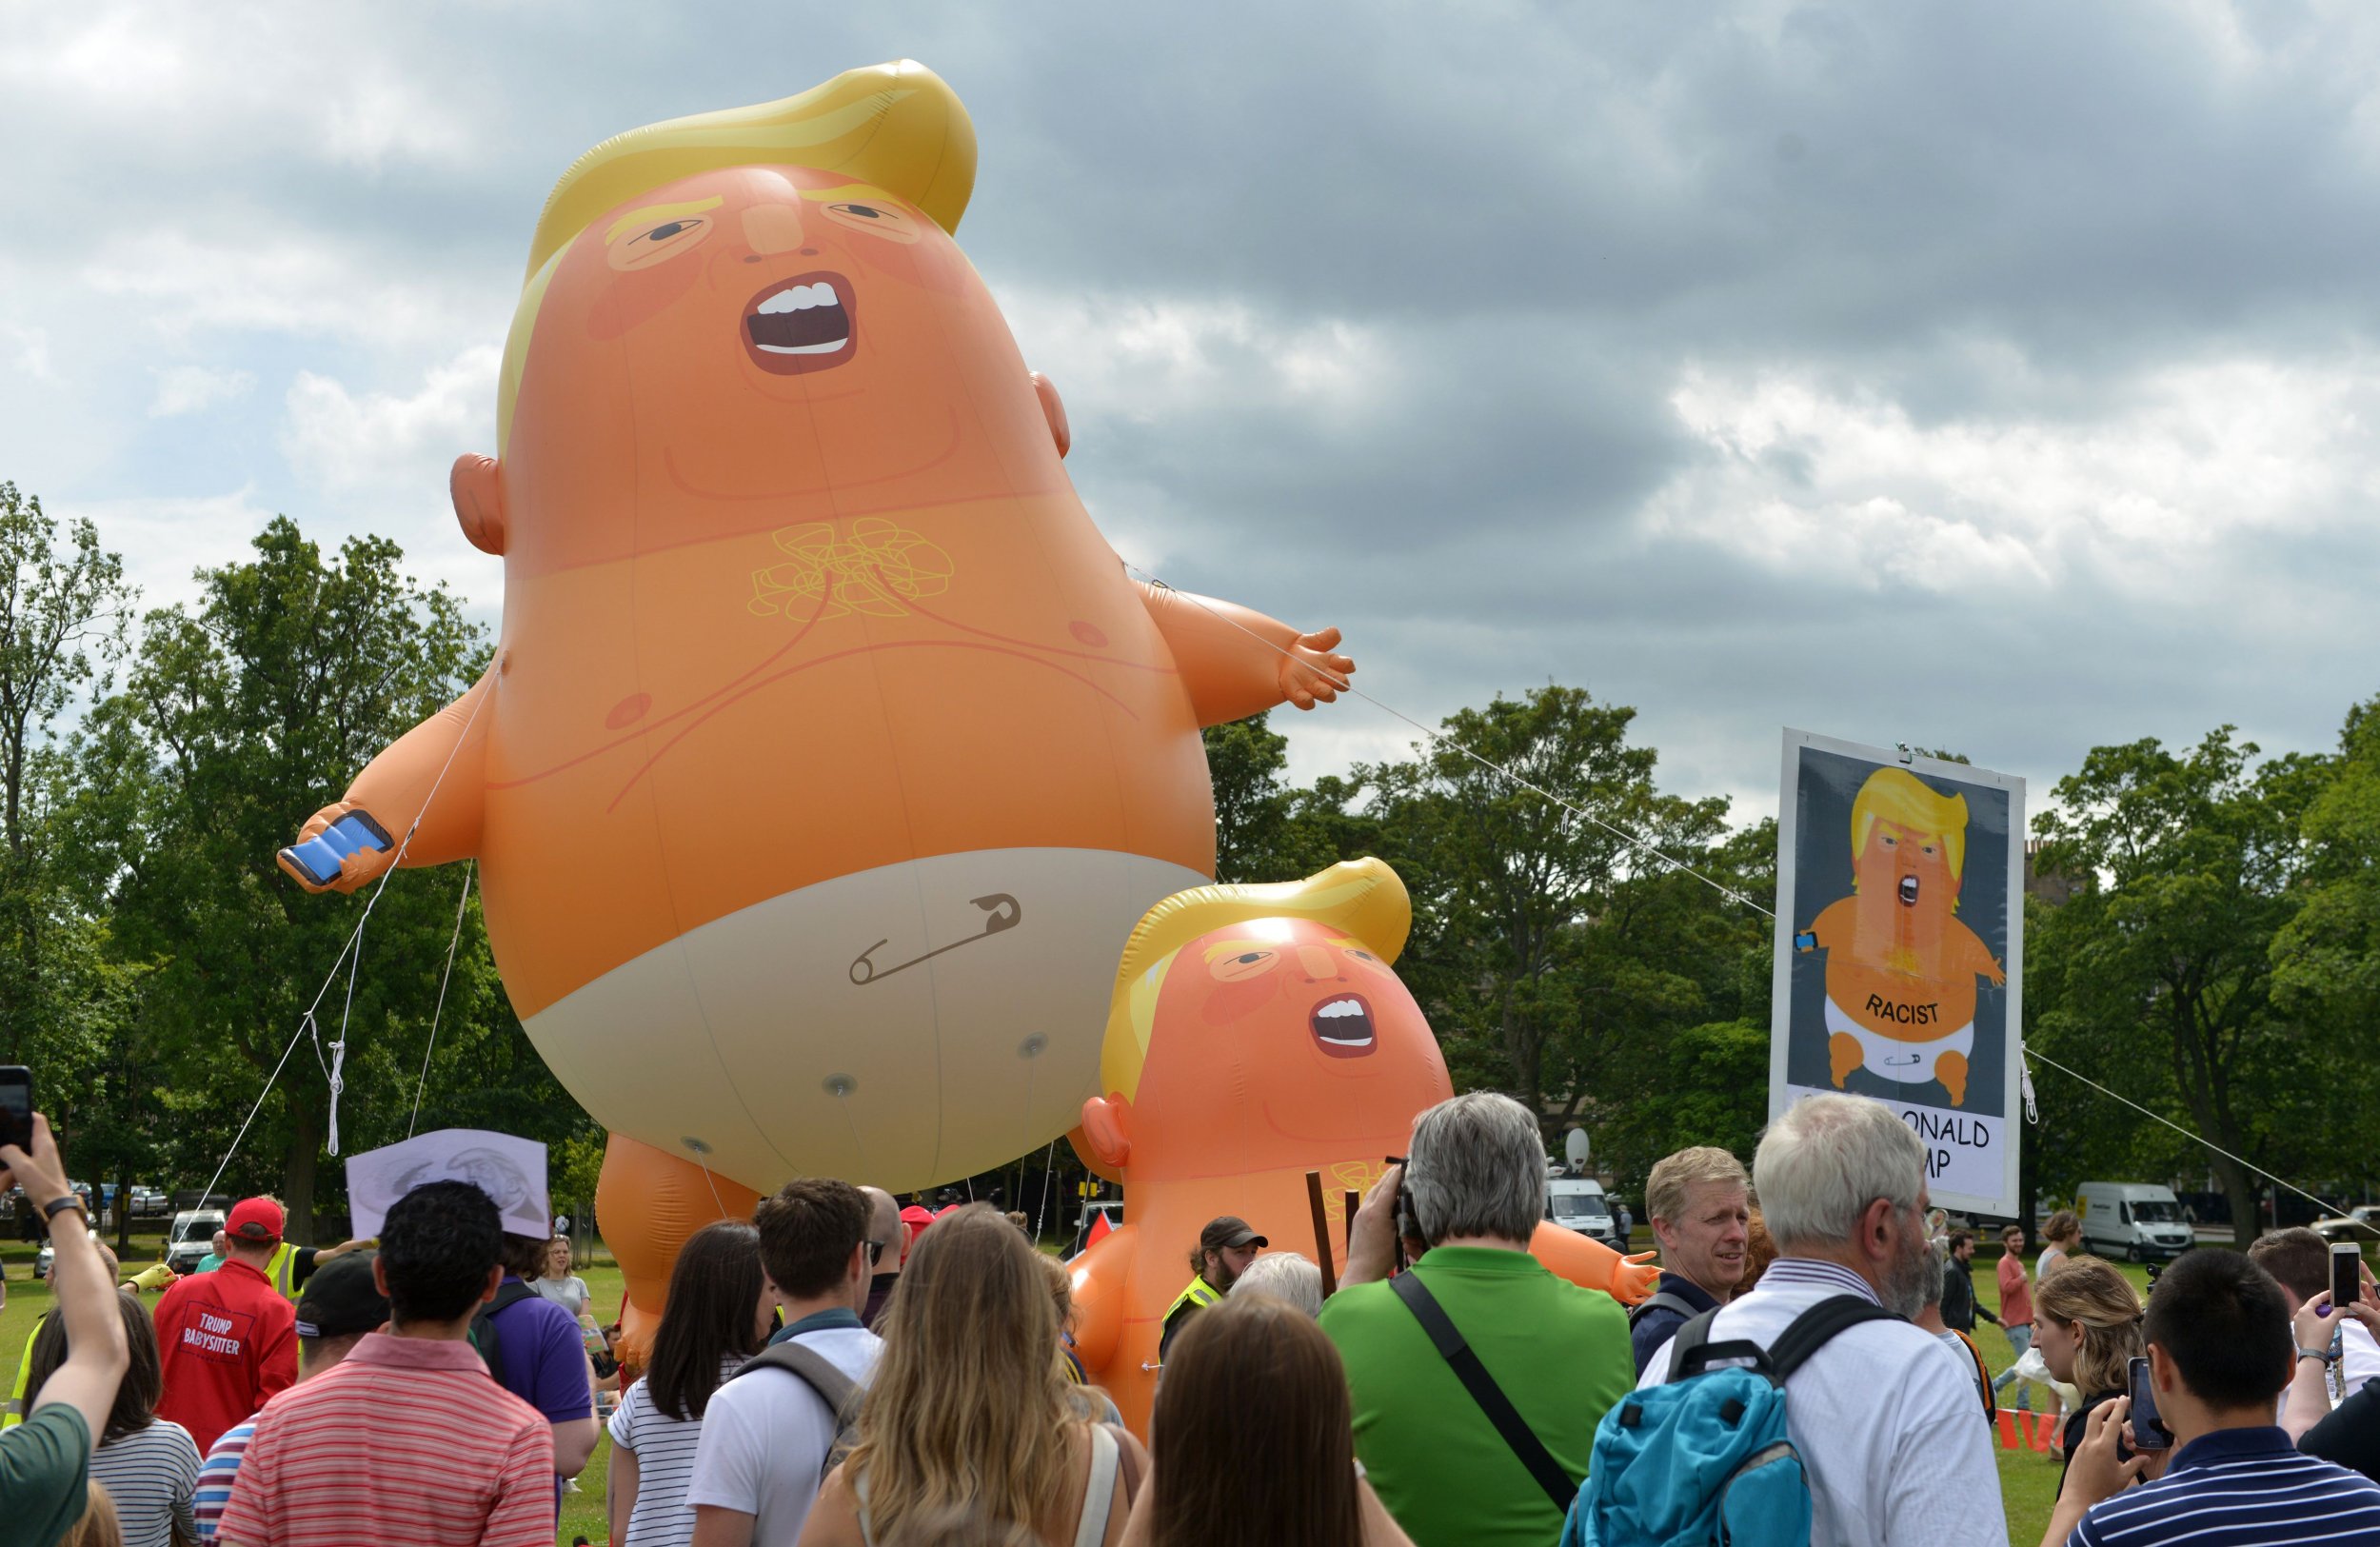
<svg viewBox="0 0 2380 1547">
<path fill-rule="evenodd" d="M 497 455 L 455 464 L 495 664 L 283 854 L 352 890 L 419 819 L 407 864 L 481 859 L 505 988 L 616 1135 L 643 1309 L 750 1190 L 1064 1133 L 1116 952 L 1214 869 L 1200 726 L 1352 671 L 1335 631 L 1126 578 L 952 243 L 973 169 L 912 62 L 583 155 Z"/>
</svg>

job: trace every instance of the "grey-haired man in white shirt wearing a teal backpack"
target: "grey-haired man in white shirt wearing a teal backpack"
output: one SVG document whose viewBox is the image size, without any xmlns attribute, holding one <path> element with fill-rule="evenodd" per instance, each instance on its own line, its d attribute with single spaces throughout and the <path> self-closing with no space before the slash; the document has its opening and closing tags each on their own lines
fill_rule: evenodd
<svg viewBox="0 0 2380 1547">
<path fill-rule="evenodd" d="M 1883 1102 L 1811 1095 L 1752 1157 L 1778 1259 L 1756 1288 L 1697 1319 L 1709 1342 L 1771 1347 L 1840 1295 L 1914 1319 L 1940 1280 L 1925 1233 L 1925 1147 Z M 1676 1342 L 1676 1340 L 1673 1340 Z M 1671 1345 L 1642 1388 L 1671 1373 Z M 2009 1528 L 1990 1428 L 1952 1352 L 1906 1321 L 1837 1333 L 1785 1380 L 1785 1423 L 1811 1492 L 1811 1540 L 1999 1547 Z"/>
</svg>

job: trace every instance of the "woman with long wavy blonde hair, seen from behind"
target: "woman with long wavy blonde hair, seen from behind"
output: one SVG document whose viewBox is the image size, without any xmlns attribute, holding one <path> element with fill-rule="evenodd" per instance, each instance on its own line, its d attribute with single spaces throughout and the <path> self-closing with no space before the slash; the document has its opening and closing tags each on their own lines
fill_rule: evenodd
<svg viewBox="0 0 2380 1547">
<path fill-rule="evenodd" d="M 819 1490 L 802 1547 L 869 1547 L 950 1509 L 1023 1526 L 1047 1547 L 1123 1537 L 1150 1459 L 1069 1399 L 1035 1257 L 988 1204 L 919 1235 L 878 1328 L 859 1442 Z"/>
</svg>

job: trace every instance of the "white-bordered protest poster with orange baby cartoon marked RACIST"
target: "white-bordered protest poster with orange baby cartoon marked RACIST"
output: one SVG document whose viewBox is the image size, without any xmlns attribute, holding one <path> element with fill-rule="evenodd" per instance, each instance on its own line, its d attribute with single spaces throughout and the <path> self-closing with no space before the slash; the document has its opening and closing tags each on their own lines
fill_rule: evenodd
<svg viewBox="0 0 2380 1547">
<path fill-rule="evenodd" d="M 2021 1214 L 2025 781 L 1785 731 L 1768 1116 L 1887 1102 L 1944 1209 Z"/>
</svg>

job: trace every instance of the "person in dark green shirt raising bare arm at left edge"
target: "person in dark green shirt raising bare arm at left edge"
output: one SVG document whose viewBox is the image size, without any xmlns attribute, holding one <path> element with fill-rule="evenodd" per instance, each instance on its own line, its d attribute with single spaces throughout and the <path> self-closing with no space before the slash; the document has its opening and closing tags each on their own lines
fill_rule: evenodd
<svg viewBox="0 0 2380 1547">
<path fill-rule="evenodd" d="M 90 1438 L 107 1423 L 131 1364 L 114 1271 L 100 1259 L 83 1200 L 67 1188 L 50 1119 L 33 1114 L 33 1152 L 0 1145 L 0 1190 L 14 1180 L 50 1221 L 50 1292 L 67 1323 L 67 1361 L 33 1392 L 31 1416 L 0 1435 L 0 1547 L 50 1547 L 83 1516 Z"/>
</svg>

